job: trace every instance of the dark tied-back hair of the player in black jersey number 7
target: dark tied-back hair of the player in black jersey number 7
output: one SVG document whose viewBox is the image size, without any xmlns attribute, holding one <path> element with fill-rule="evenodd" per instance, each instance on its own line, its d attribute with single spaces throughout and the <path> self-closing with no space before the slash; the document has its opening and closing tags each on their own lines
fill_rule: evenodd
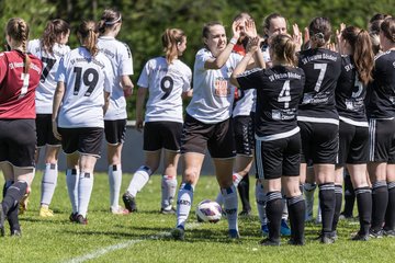
<svg viewBox="0 0 395 263">
<path fill-rule="evenodd" d="M 315 18 L 308 25 L 312 42 L 317 47 L 323 47 L 330 39 L 331 25 L 327 18 Z"/>
</svg>

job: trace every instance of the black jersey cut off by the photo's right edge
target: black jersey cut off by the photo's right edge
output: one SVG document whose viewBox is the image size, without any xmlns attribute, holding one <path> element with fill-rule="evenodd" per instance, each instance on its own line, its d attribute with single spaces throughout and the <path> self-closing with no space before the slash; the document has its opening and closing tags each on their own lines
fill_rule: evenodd
<svg viewBox="0 0 395 263">
<path fill-rule="evenodd" d="M 395 117 L 395 50 L 375 58 L 373 79 L 366 94 L 368 117 Z"/>
</svg>

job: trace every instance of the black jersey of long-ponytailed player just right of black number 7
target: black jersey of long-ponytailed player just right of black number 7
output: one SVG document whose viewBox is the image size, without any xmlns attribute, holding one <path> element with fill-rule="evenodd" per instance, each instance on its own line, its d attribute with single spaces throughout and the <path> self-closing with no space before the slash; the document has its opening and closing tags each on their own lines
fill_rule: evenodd
<svg viewBox="0 0 395 263">
<path fill-rule="evenodd" d="M 341 56 L 341 73 L 335 95 L 340 119 L 352 125 L 368 126 L 364 106 L 366 87 L 359 80 L 351 56 Z"/>
</svg>

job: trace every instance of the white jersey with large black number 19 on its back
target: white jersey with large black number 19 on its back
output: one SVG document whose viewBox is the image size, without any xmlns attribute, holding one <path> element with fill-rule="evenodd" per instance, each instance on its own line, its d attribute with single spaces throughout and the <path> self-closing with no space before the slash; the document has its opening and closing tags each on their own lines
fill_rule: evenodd
<svg viewBox="0 0 395 263">
<path fill-rule="evenodd" d="M 104 90 L 111 92 L 111 61 L 101 53 L 94 58 L 78 47 L 61 58 L 56 75 L 65 82 L 65 94 L 58 114 L 63 128 L 104 128 Z"/>
</svg>

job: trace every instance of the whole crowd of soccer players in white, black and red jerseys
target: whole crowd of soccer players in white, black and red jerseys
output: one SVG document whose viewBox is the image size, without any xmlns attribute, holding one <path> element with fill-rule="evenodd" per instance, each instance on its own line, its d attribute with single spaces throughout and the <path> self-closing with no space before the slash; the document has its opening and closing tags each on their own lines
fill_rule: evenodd
<svg viewBox="0 0 395 263">
<path fill-rule="evenodd" d="M 272 13 L 260 35 L 253 19 L 240 13 L 229 41 L 222 23 L 204 25 L 204 46 L 193 72 L 180 60 L 187 35 L 167 28 L 161 37 L 165 56 L 149 59 L 137 82 L 136 128 L 144 129 L 145 161 L 122 196 L 125 208 L 119 205 L 121 155 L 125 98 L 134 84 L 131 50 L 116 39 L 121 26 L 121 13 L 104 10 L 99 23 L 81 22 L 80 46 L 71 50 L 70 27 L 63 20 L 49 21 L 42 37 L 33 41 L 22 19 L 8 22 L 9 50 L 0 54 L 2 236 L 5 219 L 11 235 L 21 235 L 19 214 L 26 209 L 41 149 L 45 170 L 40 216 L 54 216 L 49 205 L 61 148 L 70 221 L 88 224 L 94 165 L 105 136 L 112 214 L 137 211 L 136 195 L 158 169 L 163 151 L 160 211 L 176 214 L 174 239 L 185 238 L 207 150 L 229 239 L 240 237 L 237 188 L 240 214 L 251 210 L 251 165 L 261 230 L 268 236 L 262 245 L 279 245 L 281 235 L 291 236 L 290 244 L 305 243 L 316 185 L 319 240 L 335 242 L 345 168 L 360 221 L 352 240 L 395 237 L 395 19 L 376 14 L 369 30 L 341 24 L 335 34 L 328 19 L 315 18 L 304 34 L 294 24 L 291 35 L 285 18 Z M 184 98 L 191 98 L 185 113 Z M 183 172 L 176 196 L 180 157 Z"/>
</svg>

